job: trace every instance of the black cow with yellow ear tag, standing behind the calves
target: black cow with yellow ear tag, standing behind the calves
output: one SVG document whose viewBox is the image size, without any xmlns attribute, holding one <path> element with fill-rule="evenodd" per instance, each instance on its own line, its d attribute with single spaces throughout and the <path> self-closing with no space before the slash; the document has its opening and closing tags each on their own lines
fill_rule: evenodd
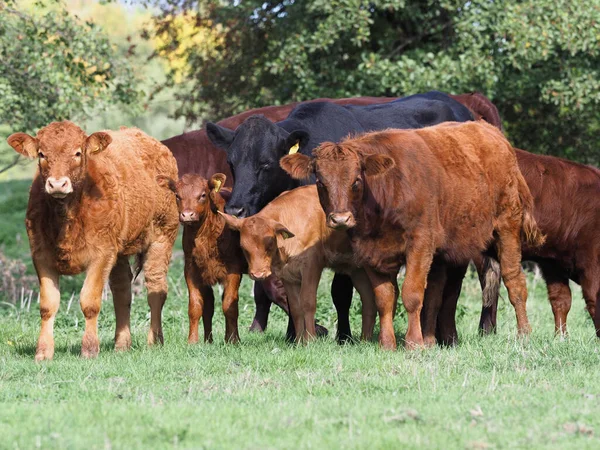
<svg viewBox="0 0 600 450">
<path fill-rule="evenodd" d="M 206 132 L 213 144 L 227 152 L 227 162 L 235 179 L 225 211 L 247 217 L 256 214 L 282 192 L 314 182 L 293 180 L 281 169 L 279 159 L 290 152 L 310 156 L 322 142 L 337 142 L 350 134 L 469 120 L 473 120 L 473 116 L 465 106 L 446 94 L 431 91 L 368 106 L 306 103 L 294 108 L 281 122 L 251 116 L 235 131 L 209 122 Z M 331 295 L 338 313 L 338 339 L 345 340 L 351 336 L 350 278 L 336 274 Z"/>
</svg>

